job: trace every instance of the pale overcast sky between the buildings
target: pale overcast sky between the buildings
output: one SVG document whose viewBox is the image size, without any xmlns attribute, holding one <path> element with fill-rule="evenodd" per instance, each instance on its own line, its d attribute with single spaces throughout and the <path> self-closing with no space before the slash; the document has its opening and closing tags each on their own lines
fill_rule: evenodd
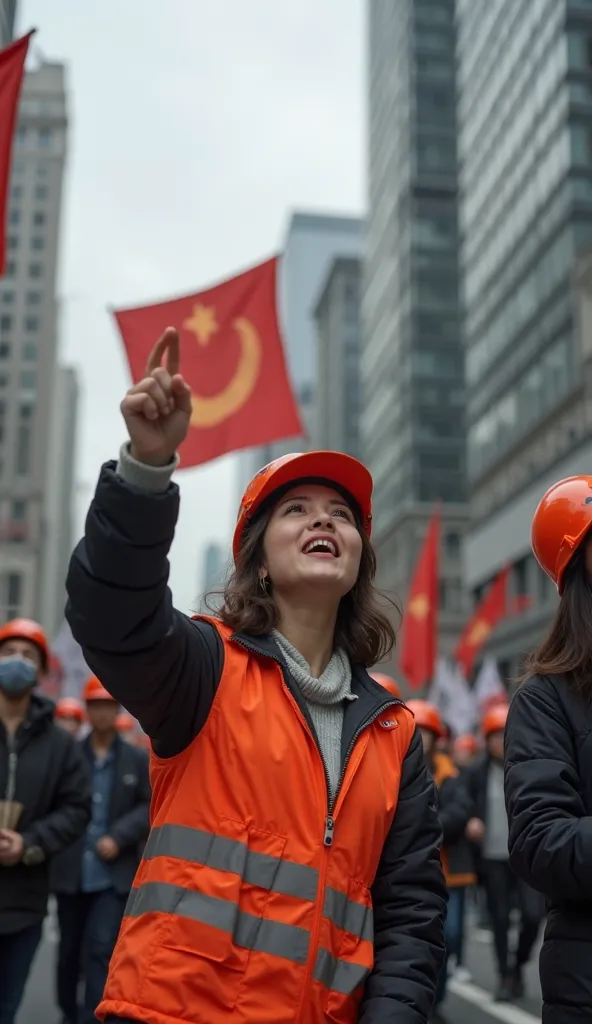
<svg viewBox="0 0 592 1024">
<path fill-rule="evenodd" d="M 124 438 L 107 307 L 199 290 L 278 249 L 293 209 L 358 214 L 364 0 L 20 0 L 34 52 L 68 66 L 61 357 L 80 372 L 79 530 Z M 227 542 L 232 457 L 179 473 L 176 603 Z M 87 489 L 84 486 L 87 485 Z"/>
</svg>

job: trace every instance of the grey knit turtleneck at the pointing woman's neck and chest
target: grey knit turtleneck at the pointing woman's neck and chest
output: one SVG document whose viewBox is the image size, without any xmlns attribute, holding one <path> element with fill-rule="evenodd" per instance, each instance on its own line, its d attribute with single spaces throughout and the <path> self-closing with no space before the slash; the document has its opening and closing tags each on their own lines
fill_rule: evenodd
<svg viewBox="0 0 592 1024">
<path fill-rule="evenodd" d="M 333 799 L 336 796 L 341 767 L 343 701 L 357 699 L 355 693 L 351 692 L 349 658 L 344 650 L 337 647 L 325 672 L 316 678 L 311 675 L 306 658 L 278 630 L 273 630 L 273 639 L 308 706 Z"/>
</svg>

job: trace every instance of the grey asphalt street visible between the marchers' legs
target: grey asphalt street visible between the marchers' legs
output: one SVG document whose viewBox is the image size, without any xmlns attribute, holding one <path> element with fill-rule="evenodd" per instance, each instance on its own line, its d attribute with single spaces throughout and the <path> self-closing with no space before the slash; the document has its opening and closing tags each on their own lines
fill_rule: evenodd
<svg viewBox="0 0 592 1024">
<path fill-rule="evenodd" d="M 39 949 L 29 982 L 27 995 L 16 1024 L 57 1024 L 59 1014 L 54 1002 L 53 964 L 56 932 L 51 918 L 47 919 L 45 939 Z M 470 982 L 454 977 L 442 1008 L 450 1024 L 540 1024 L 541 992 L 538 966 L 526 969 L 526 996 L 512 1005 L 496 1004 L 492 993 L 496 976 L 489 932 L 470 927 L 466 941 L 466 967 Z"/>
</svg>

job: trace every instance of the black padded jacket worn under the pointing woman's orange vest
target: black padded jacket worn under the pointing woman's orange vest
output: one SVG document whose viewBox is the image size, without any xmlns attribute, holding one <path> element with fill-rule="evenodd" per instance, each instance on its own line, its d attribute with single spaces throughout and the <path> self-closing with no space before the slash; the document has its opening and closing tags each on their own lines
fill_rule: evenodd
<svg viewBox="0 0 592 1024">
<path fill-rule="evenodd" d="M 167 555 L 179 493 L 147 494 L 103 467 L 68 574 L 67 617 L 93 672 L 172 757 L 203 728 L 222 672 L 216 630 L 176 611 L 167 587 Z M 270 638 L 244 638 L 260 657 L 284 668 L 306 716 L 298 687 Z M 384 708 L 396 701 L 354 668 L 358 699 L 345 709 L 342 752 Z M 416 734 L 403 767 L 396 815 L 374 883 L 375 969 L 361 1024 L 424 1024 L 443 962 L 446 886 L 439 862 L 436 797 Z"/>
</svg>

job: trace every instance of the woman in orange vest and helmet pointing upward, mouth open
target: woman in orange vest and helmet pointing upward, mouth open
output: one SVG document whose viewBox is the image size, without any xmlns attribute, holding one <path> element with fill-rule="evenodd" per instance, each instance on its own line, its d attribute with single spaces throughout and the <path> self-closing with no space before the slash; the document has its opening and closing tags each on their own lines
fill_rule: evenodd
<svg viewBox="0 0 592 1024">
<path fill-rule="evenodd" d="M 413 717 L 365 669 L 392 644 L 371 477 L 337 453 L 266 466 L 220 620 L 185 617 L 167 589 L 178 364 L 169 329 L 68 578 L 88 664 L 153 743 L 153 827 L 98 1017 L 420 1024 L 443 961 L 440 829 Z"/>
</svg>

